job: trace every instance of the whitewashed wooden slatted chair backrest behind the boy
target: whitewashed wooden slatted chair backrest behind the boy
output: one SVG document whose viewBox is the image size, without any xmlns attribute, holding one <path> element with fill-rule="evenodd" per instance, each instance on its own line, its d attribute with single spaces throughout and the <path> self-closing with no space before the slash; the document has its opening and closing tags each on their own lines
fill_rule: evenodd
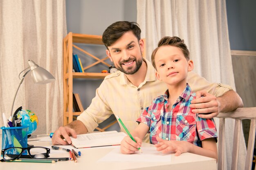
<svg viewBox="0 0 256 170">
<path fill-rule="evenodd" d="M 256 133 L 256 107 L 238 108 L 228 113 L 219 113 L 217 117 L 220 118 L 218 137 L 218 170 L 224 170 L 225 118 L 235 119 L 231 170 L 238 169 L 238 151 L 240 141 L 241 120 L 251 120 L 245 161 L 245 170 L 252 170 L 252 159 Z"/>
</svg>

